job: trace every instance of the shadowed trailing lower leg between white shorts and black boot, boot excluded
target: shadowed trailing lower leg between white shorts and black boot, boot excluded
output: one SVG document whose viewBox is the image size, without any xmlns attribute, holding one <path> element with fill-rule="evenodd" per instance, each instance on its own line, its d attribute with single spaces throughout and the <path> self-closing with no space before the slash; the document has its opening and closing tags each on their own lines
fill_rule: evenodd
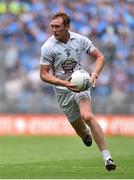
<svg viewBox="0 0 134 180">
<path fill-rule="evenodd" d="M 82 138 L 84 138 L 89 133 L 89 129 L 86 123 L 81 118 L 77 119 L 74 122 L 71 122 L 71 125 L 76 133 Z"/>
</svg>

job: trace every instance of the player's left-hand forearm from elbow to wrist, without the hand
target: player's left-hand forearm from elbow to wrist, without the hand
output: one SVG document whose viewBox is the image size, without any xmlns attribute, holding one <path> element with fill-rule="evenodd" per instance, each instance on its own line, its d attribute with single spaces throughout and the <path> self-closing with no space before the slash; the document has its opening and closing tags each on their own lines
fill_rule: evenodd
<svg viewBox="0 0 134 180">
<path fill-rule="evenodd" d="M 66 86 L 65 80 L 56 78 L 55 76 L 50 75 L 50 74 L 41 74 L 40 78 L 42 81 L 49 84 L 58 85 L 58 86 Z"/>
</svg>

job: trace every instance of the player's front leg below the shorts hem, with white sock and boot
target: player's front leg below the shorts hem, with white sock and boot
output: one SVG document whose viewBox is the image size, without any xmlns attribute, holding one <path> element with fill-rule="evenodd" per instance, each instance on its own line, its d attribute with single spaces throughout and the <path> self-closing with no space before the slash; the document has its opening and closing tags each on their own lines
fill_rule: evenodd
<svg viewBox="0 0 134 180">
<path fill-rule="evenodd" d="M 98 122 L 96 121 L 95 116 L 93 115 L 90 99 L 80 99 L 79 109 L 82 119 L 90 127 L 92 136 L 96 144 L 98 145 L 100 151 L 102 152 L 106 169 L 109 171 L 115 170 L 116 165 L 114 164 L 110 152 L 107 148 L 103 131 Z"/>
</svg>

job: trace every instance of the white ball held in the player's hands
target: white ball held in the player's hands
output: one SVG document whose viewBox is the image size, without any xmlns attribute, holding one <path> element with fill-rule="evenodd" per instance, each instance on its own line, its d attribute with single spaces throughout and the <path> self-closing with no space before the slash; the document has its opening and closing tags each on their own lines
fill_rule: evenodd
<svg viewBox="0 0 134 180">
<path fill-rule="evenodd" d="M 80 91 L 85 91 L 91 86 L 91 77 L 85 70 L 73 72 L 70 79 L 71 84 L 76 85 Z"/>
</svg>

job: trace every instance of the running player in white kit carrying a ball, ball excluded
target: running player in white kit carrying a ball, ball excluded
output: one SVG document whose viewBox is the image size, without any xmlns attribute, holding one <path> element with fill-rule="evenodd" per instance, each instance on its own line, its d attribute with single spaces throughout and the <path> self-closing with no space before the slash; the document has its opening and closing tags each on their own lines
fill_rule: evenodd
<svg viewBox="0 0 134 180">
<path fill-rule="evenodd" d="M 70 31 L 70 17 L 66 13 L 54 14 L 50 25 L 53 35 L 41 47 L 40 78 L 54 85 L 60 107 L 84 144 L 91 146 L 93 137 L 106 169 L 115 170 L 103 131 L 92 112 L 90 88 L 79 92 L 77 86 L 68 80 L 74 71 L 82 69 L 81 54 L 86 51 L 96 62 L 91 73 L 95 87 L 104 66 L 104 56 L 87 37 Z"/>
</svg>

